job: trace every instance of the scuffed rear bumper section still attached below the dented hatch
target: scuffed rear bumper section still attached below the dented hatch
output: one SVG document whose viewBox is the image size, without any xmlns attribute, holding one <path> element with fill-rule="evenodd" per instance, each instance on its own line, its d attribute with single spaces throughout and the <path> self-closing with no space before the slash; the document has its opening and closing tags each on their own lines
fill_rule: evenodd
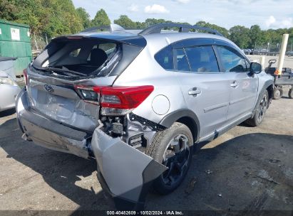
<svg viewBox="0 0 293 216">
<path fill-rule="evenodd" d="M 72 153 L 88 158 L 91 134 L 48 119 L 31 109 L 26 90 L 21 90 L 16 99 L 16 114 L 23 139 L 56 151 Z"/>
</svg>

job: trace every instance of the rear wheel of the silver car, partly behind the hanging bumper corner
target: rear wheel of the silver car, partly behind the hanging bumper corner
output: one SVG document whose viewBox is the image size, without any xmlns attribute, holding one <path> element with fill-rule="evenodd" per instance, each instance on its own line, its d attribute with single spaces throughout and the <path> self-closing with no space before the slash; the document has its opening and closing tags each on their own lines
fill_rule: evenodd
<svg viewBox="0 0 293 216">
<path fill-rule="evenodd" d="M 155 134 L 146 153 L 169 168 L 154 180 L 153 188 L 162 195 L 171 193 L 182 183 L 190 167 L 193 153 L 192 133 L 185 124 L 175 122 L 169 129 Z"/>
</svg>

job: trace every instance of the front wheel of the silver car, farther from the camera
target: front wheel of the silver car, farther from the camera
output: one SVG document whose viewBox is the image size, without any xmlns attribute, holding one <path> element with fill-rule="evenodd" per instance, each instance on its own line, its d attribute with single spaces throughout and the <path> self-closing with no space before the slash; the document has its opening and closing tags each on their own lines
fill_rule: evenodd
<svg viewBox="0 0 293 216">
<path fill-rule="evenodd" d="M 250 126 L 259 126 L 264 119 L 264 114 L 267 112 L 267 108 L 269 107 L 269 93 L 267 90 L 265 90 L 262 97 L 259 98 L 257 107 L 255 107 L 255 115 L 245 121 Z"/>
</svg>

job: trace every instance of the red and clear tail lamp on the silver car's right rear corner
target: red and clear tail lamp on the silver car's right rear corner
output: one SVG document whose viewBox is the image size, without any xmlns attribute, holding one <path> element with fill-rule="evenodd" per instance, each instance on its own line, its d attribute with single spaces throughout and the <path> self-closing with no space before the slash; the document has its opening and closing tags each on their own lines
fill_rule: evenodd
<svg viewBox="0 0 293 216">
<path fill-rule="evenodd" d="M 101 114 L 125 115 L 138 107 L 154 90 L 153 85 L 135 87 L 76 86 L 85 102 L 101 106 Z"/>
</svg>

